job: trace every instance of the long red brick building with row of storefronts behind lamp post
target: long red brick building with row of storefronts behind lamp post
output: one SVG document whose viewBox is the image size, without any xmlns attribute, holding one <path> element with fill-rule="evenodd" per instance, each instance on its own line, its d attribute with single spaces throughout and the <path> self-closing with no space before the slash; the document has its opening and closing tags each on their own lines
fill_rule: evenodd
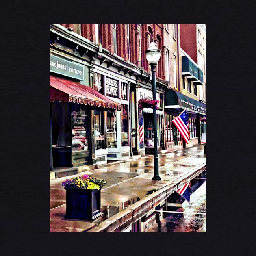
<svg viewBox="0 0 256 256">
<path fill-rule="evenodd" d="M 145 57 L 152 41 L 161 50 L 158 152 L 182 148 L 182 138 L 170 126 L 182 108 L 165 107 L 168 90 L 182 93 L 182 31 L 180 24 L 50 25 L 51 169 L 152 153 L 153 114 L 138 106 L 141 98 L 152 98 Z M 56 114 L 60 109 L 62 118 Z"/>
</svg>

